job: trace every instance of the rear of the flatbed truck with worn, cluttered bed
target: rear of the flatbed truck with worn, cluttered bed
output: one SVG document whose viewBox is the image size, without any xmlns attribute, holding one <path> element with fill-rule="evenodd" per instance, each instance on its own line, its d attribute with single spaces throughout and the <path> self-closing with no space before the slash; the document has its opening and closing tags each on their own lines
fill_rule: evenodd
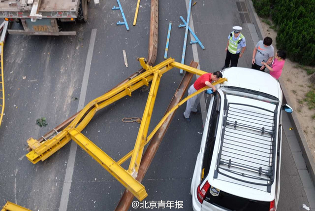
<svg viewBox="0 0 315 211">
<path fill-rule="evenodd" d="M 76 35 L 62 32 L 59 22 L 86 22 L 91 0 L 0 0 L 0 18 L 16 21 L 24 30 L 8 30 L 11 35 Z M 94 1 L 99 3 L 98 0 Z"/>
</svg>

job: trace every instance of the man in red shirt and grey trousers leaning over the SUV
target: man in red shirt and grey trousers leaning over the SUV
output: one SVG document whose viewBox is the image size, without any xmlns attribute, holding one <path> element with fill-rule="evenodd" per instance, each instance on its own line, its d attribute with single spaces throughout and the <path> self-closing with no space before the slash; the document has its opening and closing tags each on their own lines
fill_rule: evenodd
<svg viewBox="0 0 315 211">
<path fill-rule="evenodd" d="M 201 75 L 188 89 L 188 95 L 191 95 L 198 91 L 199 89 L 208 86 L 209 88 L 213 89 L 213 92 L 216 91 L 216 87 L 212 85 L 212 81 L 219 80 L 222 76 L 222 73 L 219 71 L 216 71 L 214 73 L 206 73 Z M 200 111 L 197 110 L 197 106 L 200 103 L 200 98 L 202 96 L 202 93 L 190 98 L 187 101 L 186 110 L 184 112 L 184 118 L 187 122 L 190 122 L 190 112 L 193 113 L 200 113 Z"/>
</svg>

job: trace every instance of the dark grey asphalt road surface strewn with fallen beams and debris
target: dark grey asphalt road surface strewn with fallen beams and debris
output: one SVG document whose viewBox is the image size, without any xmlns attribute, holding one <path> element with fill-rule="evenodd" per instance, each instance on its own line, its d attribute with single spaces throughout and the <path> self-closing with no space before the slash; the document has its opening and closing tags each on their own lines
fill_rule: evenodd
<svg viewBox="0 0 315 211">
<path fill-rule="evenodd" d="M 221 70 L 225 58 L 227 35 L 232 26 L 243 27 L 247 51 L 240 67 L 250 67 L 254 47 L 247 24 L 241 22 L 236 1 L 198 0 L 191 14 L 194 29 L 206 47 L 199 46 L 200 68 Z M 122 21 L 119 10 L 112 11 L 116 1 L 101 1 L 89 7 L 86 24 L 63 25 L 64 31 L 75 30 L 77 36 L 9 35 L 4 49 L 6 106 L 0 128 L 0 205 L 6 200 L 31 210 L 57 211 L 60 206 L 70 144 L 44 162 L 33 165 L 24 156 L 26 140 L 50 131 L 78 109 L 92 29 L 96 29 L 95 46 L 85 104 L 107 92 L 127 76 L 140 69 L 137 57 L 146 57 L 149 42 L 150 0 L 141 0 L 137 25 L 132 26 L 136 0 L 121 0 L 130 30 L 116 26 Z M 117 5 L 116 5 L 117 6 Z M 168 23 L 173 23 L 168 56 L 181 60 L 185 29 L 179 29 L 179 16 L 187 16 L 184 0 L 159 1 L 159 38 L 156 64 L 163 61 Z M 18 24 L 13 25 L 19 28 Z M 188 38 L 188 41 L 190 38 Z M 124 65 L 126 50 L 128 68 Z M 188 45 L 186 64 L 192 60 Z M 26 76 L 23 79 L 22 76 Z M 162 118 L 181 81 L 179 70 L 164 74 L 151 120 L 151 131 Z M 135 91 L 115 105 L 99 111 L 83 133 L 112 158 L 118 160 L 133 148 L 139 125 L 123 123 L 123 117 L 141 117 L 148 91 Z M 191 123 L 183 119 L 179 108 L 161 143 L 143 184 L 149 201 L 183 201 L 191 210 L 190 182 L 203 131 L 199 115 Z M 48 126 L 35 125 L 46 117 Z M 125 164 L 126 168 L 127 165 Z M 307 198 L 297 174 L 287 141 L 283 140 L 280 211 L 303 210 Z M 68 211 L 112 211 L 125 188 L 78 147 L 68 199 Z M 139 210 L 139 209 L 138 209 Z"/>
</svg>

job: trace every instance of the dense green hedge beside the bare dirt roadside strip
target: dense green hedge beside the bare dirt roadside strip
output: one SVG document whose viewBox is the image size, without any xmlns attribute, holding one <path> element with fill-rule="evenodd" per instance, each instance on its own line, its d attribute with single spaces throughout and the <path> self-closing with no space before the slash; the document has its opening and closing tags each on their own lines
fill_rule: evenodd
<svg viewBox="0 0 315 211">
<path fill-rule="evenodd" d="M 256 11 L 272 8 L 278 49 L 284 49 L 292 61 L 315 65 L 315 0 L 253 0 L 253 5 Z"/>
</svg>

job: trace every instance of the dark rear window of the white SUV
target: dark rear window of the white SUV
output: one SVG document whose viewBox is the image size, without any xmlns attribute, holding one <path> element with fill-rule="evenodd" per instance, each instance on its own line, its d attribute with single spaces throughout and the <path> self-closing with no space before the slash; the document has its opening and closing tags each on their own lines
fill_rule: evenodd
<svg viewBox="0 0 315 211">
<path fill-rule="evenodd" d="M 206 202 L 231 211 L 269 211 L 270 202 L 238 197 L 210 186 L 204 199 Z"/>
</svg>

